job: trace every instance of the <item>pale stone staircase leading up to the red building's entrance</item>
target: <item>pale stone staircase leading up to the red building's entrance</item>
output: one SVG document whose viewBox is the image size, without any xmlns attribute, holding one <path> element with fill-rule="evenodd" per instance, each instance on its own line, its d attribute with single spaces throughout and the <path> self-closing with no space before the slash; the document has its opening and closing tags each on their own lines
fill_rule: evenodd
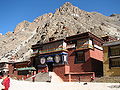
<svg viewBox="0 0 120 90">
<path fill-rule="evenodd" d="M 35 76 L 35 82 L 63 82 L 54 72 L 40 72 Z M 26 79 L 26 81 L 32 81 L 32 77 Z"/>
</svg>

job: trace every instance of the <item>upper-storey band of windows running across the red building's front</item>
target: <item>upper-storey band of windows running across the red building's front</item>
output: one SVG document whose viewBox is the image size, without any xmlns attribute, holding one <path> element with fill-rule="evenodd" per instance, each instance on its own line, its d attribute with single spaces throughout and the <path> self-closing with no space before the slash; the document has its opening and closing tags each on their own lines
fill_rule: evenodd
<svg viewBox="0 0 120 90">
<path fill-rule="evenodd" d="M 50 43 L 49 45 L 44 45 L 41 50 L 33 49 L 34 53 L 47 53 L 56 50 L 63 50 L 67 48 L 76 48 L 76 49 L 88 49 L 93 48 L 93 41 L 89 38 L 78 40 L 76 43 L 68 44 L 64 41 L 59 41 L 55 43 Z"/>
</svg>

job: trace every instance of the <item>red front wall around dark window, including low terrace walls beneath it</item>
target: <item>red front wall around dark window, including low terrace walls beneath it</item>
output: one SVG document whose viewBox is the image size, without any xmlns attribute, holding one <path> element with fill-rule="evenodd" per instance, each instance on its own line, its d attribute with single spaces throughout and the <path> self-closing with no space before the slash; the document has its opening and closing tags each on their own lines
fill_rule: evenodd
<svg viewBox="0 0 120 90">
<path fill-rule="evenodd" d="M 68 65 L 63 65 L 63 66 L 56 66 L 53 68 L 53 71 L 60 76 L 63 81 L 69 81 L 69 73 L 80 73 L 80 72 L 92 72 L 92 64 L 91 64 L 91 59 L 90 59 L 90 51 L 86 50 L 85 51 L 85 63 L 79 63 L 75 64 L 75 50 L 70 49 L 68 51 Z M 90 81 L 91 76 L 93 74 L 70 74 L 71 75 L 71 81 Z"/>
</svg>

